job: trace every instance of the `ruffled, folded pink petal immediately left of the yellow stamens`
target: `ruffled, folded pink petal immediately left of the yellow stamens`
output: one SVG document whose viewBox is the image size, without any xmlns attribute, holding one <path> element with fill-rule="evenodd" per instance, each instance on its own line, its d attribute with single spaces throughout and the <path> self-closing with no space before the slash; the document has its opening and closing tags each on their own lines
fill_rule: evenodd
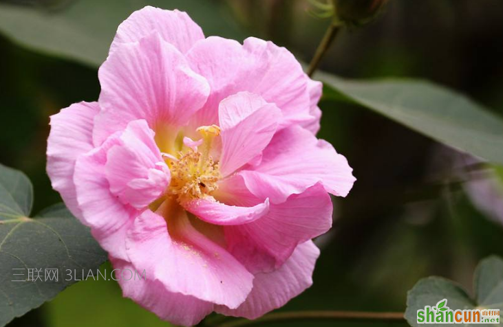
<svg viewBox="0 0 503 327">
<path fill-rule="evenodd" d="M 133 219 L 169 185 L 169 168 L 145 120 L 78 157 L 74 182 L 83 223 L 114 257 L 125 259 L 125 234 Z"/>
</svg>

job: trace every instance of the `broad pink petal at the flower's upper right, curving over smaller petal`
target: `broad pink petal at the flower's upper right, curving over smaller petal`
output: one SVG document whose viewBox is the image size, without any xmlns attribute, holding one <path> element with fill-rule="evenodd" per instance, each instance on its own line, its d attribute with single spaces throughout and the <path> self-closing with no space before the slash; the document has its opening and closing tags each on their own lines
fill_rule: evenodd
<svg viewBox="0 0 503 327">
<path fill-rule="evenodd" d="M 216 124 L 218 104 L 229 95 L 250 91 L 281 109 L 281 126 L 312 118 L 307 78 L 295 57 L 283 47 L 258 38 L 244 45 L 210 36 L 187 52 L 191 67 L 211 85 L 211 95 L 197 112 L 195 126 Z"/>
</svg>

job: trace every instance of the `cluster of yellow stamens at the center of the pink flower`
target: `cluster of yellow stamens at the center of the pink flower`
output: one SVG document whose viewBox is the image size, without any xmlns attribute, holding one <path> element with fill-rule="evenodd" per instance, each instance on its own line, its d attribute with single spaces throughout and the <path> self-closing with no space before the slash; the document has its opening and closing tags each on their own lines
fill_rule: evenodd
<svg viewBox="0 0 503 327">
<path fill-rule="evenodd" d="M 167 159 L 171 170 L 167 194 L 176 196 L 179 203 L 208 196 L 217 189 L 217 181 L 221 178 L 218 164 L 210 155 L 213 138 L 220 135 L 220 128 L 202 126 L 197 131 L 202 135 L 202 144 L 197 150 L 192 147 Z"/>
</svg>

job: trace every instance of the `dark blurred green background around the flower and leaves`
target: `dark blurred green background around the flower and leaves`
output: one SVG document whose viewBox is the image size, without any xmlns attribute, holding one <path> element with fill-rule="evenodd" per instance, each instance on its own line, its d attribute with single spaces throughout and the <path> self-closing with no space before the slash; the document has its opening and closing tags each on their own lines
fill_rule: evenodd
<svg viewBox="0 0 503 327">
<path fill-rule="evenodd" d="M 93 25 L 94 38 L 109 41 L 118 23 L 145 3 L 180 8 L 206 36 L 272 40 L 306 63 L 328 25 L 303 0 L 0 1 L 7 2 L 39 7 L 47 19 L 70 12 Z M 41 42 L 54 37 L 46 34 Z M 106 49 L 89 42 L 96 60 L 105 58 Z M 0 162 L 32 179 L 36 212 L 61 201 L 45 174 L 49 115 L 74 102 L 96 100 L 100 87 L 96 67 L 78 53 L 59 58 L 23 45 L 9 33 L 0 36 Z M 351 78 L 433 80 L 503 114 L 502 59 L 503 1 L 390 0 L 372 23 L 344 30 L 320 68 Z M 322 251 L 314 286 L 281 311 L 404 311 L 407 291 L 428 275 L 471 289 L 477 262 L 503 254 L 503 229 L 451 183 L 456 171 L 447 163 L 456 153 L 359 106 L 333 100 L 320 106 L 319 137 L 347 157 L 358 181 L 347 199 L 334 199 L 334 228 L 317 240 Z M 88 280 L 9 326 L 168 325 L 123 299 L 115 282 Z"/>
</svg>

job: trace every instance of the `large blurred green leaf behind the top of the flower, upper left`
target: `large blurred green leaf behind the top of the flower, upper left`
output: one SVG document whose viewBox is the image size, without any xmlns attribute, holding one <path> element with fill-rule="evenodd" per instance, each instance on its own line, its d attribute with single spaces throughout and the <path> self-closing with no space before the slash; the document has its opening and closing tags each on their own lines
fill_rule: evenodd
<svg viewBox="0 0 503 327">
<path fill-rule="evenodd" d="M 118 25 L 134 10 L 153 5 L 184 10 L 206 36 L 242 39 L 220 1 L 206 0 L 75 0 L 58 10 L 0 3 L 0 32 L 39 52 L 71 58 L 97 67 L 107 58 Z"/>
</svg>

